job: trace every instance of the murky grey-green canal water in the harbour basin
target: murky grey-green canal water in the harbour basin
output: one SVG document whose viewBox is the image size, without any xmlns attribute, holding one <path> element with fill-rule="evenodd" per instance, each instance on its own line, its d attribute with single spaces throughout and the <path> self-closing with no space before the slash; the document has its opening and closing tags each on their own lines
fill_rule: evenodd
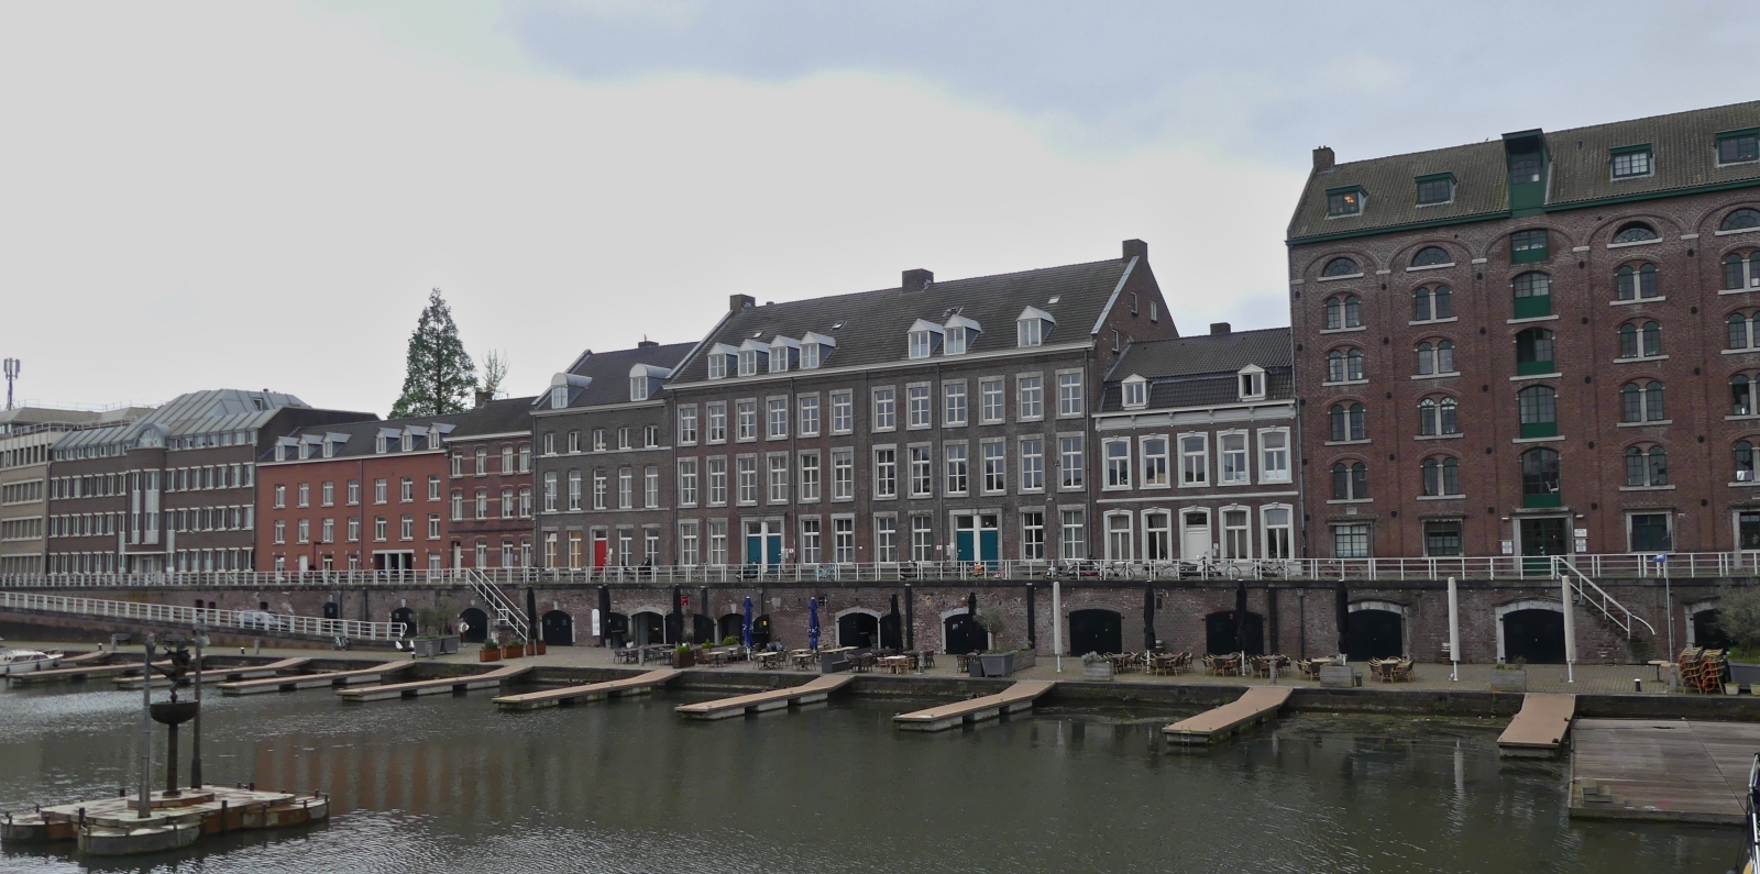
<svg viewBox="0 0 1760 874">
<path fill-rule="evenodd" d="M 1188 753 L 1160 740 L 1179 716 L 1163 709 L 919 735 L 889 717 L 924 702 L 672 712 L 699 698 L 502 714 L 480 693 L 211 696 L 206 777 L 329 791 L 327 825 L 92 865 L 7 849 L 0 870 L 1709 874 L 1739 853 L 1732 828 L 1572 823 L 1565 767 L 1500 763 L 1473 719 L 1297 716 Z M 132 786 L 139 707 L 0 691 L 0 809 Z"/>
</svg>

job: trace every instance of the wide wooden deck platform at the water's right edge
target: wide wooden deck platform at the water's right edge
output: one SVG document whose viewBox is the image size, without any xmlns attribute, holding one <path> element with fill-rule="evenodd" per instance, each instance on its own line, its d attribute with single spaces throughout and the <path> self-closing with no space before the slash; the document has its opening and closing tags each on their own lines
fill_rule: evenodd
<svg viewBox="0 0 1760 874">
<path fill-rule="evenodd" d="M 1570 816 L 1746 823 L 1760 725 L 1579 719 L 1570 746 Z"/>
</svg>

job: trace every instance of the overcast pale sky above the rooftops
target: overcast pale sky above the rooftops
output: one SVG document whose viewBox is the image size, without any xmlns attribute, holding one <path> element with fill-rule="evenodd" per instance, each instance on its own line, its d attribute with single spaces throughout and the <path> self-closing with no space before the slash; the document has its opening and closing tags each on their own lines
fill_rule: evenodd
<svg viewBox="0 0 1760 874">
<path fill-rule="evenodd" d="M 1118 257 L 1287 322 L 1309 165 L 1755 97 L 1760 4 L 0 5 L 19 397 L 384 413 L 431 287 L 540 390 L 583 348 Z"/>
</svg>

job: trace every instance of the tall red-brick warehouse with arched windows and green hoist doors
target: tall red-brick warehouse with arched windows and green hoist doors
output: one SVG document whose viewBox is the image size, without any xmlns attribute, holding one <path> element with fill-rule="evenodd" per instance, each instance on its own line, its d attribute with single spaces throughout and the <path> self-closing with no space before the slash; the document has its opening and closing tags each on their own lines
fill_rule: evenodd
<svg viewBox="0 0 1760 874">
<path fill-rule="evenodd" d="M 1315 167 L 1308 554 L 1760 547 L 1760 104 Z"/>
</svg>

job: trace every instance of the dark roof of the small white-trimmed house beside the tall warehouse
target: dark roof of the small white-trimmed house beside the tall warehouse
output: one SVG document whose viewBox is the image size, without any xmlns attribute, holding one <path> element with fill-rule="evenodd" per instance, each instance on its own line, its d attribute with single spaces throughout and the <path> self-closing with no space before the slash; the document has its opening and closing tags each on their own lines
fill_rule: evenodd
<svg viewBox="0 0 1760 874">
<path fill-rule="evenodd" d="M 1132 343 L 1107 373 L 1100 412 L 1123 410 L 1119 383 L 1132 375 L 1149 380 L 1149 410 L 1239 403 L 1236 373 L 1250 364 L 1265 369 L 1265 399 L 1288 401 L 1290 359 L 1287 327 Z"/>
</svg>

